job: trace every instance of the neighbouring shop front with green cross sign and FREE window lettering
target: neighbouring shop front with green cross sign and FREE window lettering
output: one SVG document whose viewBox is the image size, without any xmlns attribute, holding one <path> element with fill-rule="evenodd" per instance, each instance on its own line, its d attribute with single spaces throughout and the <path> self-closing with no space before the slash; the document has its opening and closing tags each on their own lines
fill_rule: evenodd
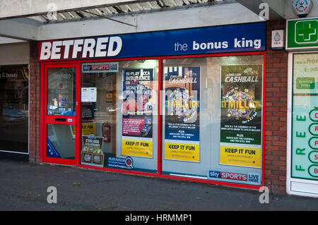
<svg viewBox="0 0 318 225">
<path fill-rule="evenodd" d="M 287 191 L 318 195 L 318 18 L 287 20 Z"/>
</svg>

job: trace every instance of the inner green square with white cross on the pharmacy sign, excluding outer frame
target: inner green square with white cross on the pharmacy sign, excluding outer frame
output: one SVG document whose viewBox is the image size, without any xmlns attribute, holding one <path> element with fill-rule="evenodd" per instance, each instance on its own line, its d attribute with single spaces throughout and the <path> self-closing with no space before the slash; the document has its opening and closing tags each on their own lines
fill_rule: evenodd
<svg viewBox="0 0 318 225">
<path fill-rule="evenodd" d="M 295 42 L 309 44 L 318 41 L 318 21 L 300 20 L 295 23 Z"/>
</svg>

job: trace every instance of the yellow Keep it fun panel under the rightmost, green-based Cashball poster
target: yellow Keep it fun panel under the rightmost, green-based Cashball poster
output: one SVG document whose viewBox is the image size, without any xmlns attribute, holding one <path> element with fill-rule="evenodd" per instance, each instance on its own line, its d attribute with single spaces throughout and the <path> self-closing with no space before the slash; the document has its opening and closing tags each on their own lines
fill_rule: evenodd
<svg viewBox="0 0 318 225">
<path fill-rule="evenodd" d="M 261 147 L 221 145 L 220 164 L 261 168 Z"/>
</svg>

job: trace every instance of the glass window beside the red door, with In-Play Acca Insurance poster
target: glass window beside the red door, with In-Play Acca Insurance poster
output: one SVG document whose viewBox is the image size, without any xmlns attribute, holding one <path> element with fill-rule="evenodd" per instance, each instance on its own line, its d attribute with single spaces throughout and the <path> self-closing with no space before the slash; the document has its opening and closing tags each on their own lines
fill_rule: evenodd
<svg viewBox="0 0 318 225">
<path fill-rule="evenodd" d="M 157 172 L 158 61 L 82 64 L 81 164 Z"/>
</svg>

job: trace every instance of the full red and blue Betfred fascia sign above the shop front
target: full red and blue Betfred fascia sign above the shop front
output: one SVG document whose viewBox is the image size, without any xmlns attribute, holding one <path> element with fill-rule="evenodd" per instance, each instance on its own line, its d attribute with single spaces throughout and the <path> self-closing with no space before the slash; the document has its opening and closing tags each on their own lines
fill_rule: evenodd
<svg viewBox="0 0 318 225">
<path fill-rule="evenodd" d="M 39 43 L 39 60 L 107 59 L 265 51 L 266 23 L 223 25 Z"/>
</svg>

